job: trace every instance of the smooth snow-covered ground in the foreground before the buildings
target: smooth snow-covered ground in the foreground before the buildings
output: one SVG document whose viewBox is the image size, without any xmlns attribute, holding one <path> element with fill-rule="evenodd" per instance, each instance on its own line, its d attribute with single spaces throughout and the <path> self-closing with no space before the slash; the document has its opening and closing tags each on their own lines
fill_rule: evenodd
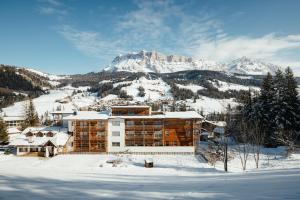
<svg viewBox="0 0 300 200">
<path fill-rule="evenodd" d="M 154 168 L 143 167 L 145 158 L 153 159 Z M 106 163 L 111 159 L 122 163 L 113 167 Z M 224 173 L 192 155 L 0 155 L 0 197 L 299 199 L 299 155 L 293 162 L 281 162 L 285 167 Z"/>
</svg>

